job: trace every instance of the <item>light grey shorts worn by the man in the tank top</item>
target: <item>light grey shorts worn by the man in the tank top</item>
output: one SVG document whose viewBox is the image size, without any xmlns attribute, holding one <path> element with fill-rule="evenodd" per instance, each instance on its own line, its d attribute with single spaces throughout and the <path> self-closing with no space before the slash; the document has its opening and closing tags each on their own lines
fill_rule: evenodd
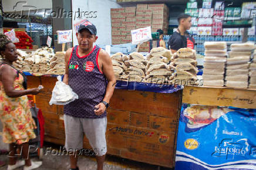
<svg viewBox="0 0 256 170">
<path fill-rule="evenodd" d="M 107 152 L 106 128 L 107 118 L 76 118 L 64 115 L 65 148 L 83 149 L 83 134 L 86 135 L 90 145 L 95 150 L 96 156 L 105 155 Z"/>
</svg>

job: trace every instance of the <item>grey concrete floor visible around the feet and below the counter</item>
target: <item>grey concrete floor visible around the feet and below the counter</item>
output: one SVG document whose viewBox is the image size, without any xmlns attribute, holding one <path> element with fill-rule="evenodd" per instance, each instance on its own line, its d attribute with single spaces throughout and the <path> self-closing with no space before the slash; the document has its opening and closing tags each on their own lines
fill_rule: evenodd
<svg viewBox="0 0 256 170">
<path fill-rule="evenodd" d="M 1 139 L 0 139 L 1 140 Z M 52 146 L 52 144 L 46 144 Z M 55 146 L 56 147 L 56 146 Z M 58 148 L 58 147 L 56 147 Z M 32 158 L 34 161 L 38 161 L 37 157 Z M 8 157 L 6 155 L 0 155 L 0 160 L 8 164 Z M 38 168 L 38 170 L 51 170 L 51 169 L 69 169 L 69 157 L 66 155 L 43 155 L 42 158 L 43 165 Z M 96 169 L 96 159 L 94 157 L 80 156 L 78 159 L 78 166 L 80 170 L 90 170 Z M 7 169 L 7 165 L 0 167 L 1 169 Z M 22 168 L 17 168 L 22 170 Z M 164 168 L 156 165 L 144 164 L 142 162 L 131 161 L 129 159 L 123 159 L 119 157 L 114 157 L 107 155 L 104 164 L 104 169 L 114 170 L 114 169 L 144 169 L 153 170 L 161 169 L 166 170 L 170 168 Z"/>
</svg>

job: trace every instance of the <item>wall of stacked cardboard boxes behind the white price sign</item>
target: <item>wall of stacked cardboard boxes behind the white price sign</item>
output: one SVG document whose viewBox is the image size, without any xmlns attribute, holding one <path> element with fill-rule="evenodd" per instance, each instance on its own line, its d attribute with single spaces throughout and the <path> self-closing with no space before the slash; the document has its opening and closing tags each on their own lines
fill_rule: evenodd
<svg viewBox="0 0 256 170">
<path fill-rule="evenodd" d="M 169 27 L 169 8 L 165 4 L 137 4 L 133 7 L 110 9 L 112 44 L 132 42 L 131 30 L 151 26 L 151 32 Z M 140 52 L 148 52 L 149 42 L 140 46 Z"/>
</svg>

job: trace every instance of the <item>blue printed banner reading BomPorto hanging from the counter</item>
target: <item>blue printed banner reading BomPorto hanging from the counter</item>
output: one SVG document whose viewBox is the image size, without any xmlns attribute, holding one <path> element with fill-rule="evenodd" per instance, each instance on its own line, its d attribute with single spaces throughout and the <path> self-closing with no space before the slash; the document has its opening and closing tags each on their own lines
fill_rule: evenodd
<svg viewBox="0 0 256 170">
<path fill-rule="evenodd" d="M 256 109 L 183 104 L 175 169 L 256 169 Z"/>
</svg>

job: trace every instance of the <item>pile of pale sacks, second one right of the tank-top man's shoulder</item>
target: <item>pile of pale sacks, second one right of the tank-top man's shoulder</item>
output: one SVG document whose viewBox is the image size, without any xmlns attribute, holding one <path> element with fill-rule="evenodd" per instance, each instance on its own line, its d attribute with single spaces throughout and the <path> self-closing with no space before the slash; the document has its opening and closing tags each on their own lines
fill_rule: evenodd
<svg viewBox="0 0 256 170">
<path fill-rule="evenodd" d="M 137 52 L 130 53 L 129 60 L 124 61 L 124 64 L 126 64 L 127 69 L 125 69 L 122 79 L 144 81 L 147 61 L 142 54 Z"/>
</svg>

